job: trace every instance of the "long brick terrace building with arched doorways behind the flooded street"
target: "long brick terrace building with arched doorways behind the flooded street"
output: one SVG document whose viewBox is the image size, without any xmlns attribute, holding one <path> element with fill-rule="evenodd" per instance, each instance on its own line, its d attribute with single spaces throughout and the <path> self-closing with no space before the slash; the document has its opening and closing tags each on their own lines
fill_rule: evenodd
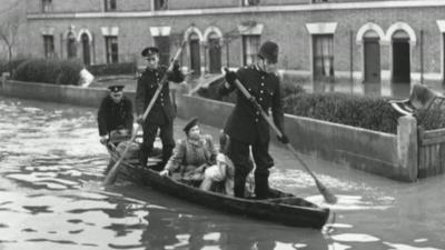
<svg viewBox="0 0 445 250">
<path fill-rule="evenodd" d="M 86 64 L 162 61 L 188 41 L 194 73 L 248 64 L 280 46 L 286 74 L 323 82 L 431 82 L 445 74 L 443 0 L 27 0 L 28 52 Z"/>
</svg>

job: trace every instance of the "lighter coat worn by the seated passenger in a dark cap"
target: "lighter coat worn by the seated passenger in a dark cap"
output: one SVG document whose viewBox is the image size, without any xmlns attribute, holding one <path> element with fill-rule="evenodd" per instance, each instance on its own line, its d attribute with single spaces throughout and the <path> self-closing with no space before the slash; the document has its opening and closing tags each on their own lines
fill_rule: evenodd
<svg viewBox="0 0 445 250">
<path fill-rule="evenodd" d="M 172 172 L 179 167 L 188 168 L 191 166 L 197 168 L 202 164 L 211 166 L 216 163 L 217 153 L 211 136 L 202 134 L 198 141 L 186 138 L 176 143 L 174 153 L 165 169 Z M 188 170 L 192 169 L 188 168 Z"/>
</svg>

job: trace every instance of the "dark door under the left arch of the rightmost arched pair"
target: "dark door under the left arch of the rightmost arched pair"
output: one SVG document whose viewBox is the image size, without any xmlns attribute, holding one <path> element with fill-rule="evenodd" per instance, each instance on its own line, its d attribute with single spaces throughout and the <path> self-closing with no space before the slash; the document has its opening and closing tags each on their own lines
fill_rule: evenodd
<svg viewBox="0 0 445 250">
<path fill-rule="evenodd" d="M 365 39 L 365 82 L 380 82 L 380 44 Z"/>
</svg>

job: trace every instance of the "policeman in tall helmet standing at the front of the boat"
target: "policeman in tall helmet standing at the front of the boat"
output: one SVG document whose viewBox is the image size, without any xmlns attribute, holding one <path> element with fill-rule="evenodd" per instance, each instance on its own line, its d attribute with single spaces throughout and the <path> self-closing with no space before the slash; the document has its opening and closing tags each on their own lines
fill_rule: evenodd
<svg viewBox="0 0 445 250">
<path fill-rule="evenodd" d="M 279 79 L 274 73 L 277 59 L 278 46 L 271 41 L 265 42 L 259 49 L 255 64 L 238 69 L 237 72 L 226 73 L 226 82 L 220 87 L 219 93 L 224 96 L 234 91 L 235 80 L 238 79 L 267 113 L 271 109 L 274 123 L 283 132 L 283 137 L 278 139 L 287 143 L 283 127 Z M 255 196 L 257 199 L 266 199 L 269 193 L 269 168 L 274 166 L 274 160 L 268 152 L 269 126 L 240 91 L 237 91 L 237 102 L 228 118 L 225 132 L 231 140 L 227 154 L 235 164 L 235 196 L 244 197 L 246 177 L 251 170 L 249 163 L 249 146 L 251 146 L 256 163 Z"/>
</svg>

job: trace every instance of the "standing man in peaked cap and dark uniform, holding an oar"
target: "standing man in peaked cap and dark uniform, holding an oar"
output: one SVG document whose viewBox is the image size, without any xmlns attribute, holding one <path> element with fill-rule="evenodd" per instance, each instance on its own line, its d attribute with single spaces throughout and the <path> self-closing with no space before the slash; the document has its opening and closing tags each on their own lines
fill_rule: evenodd
<svg viewBox="0 0 445 250">
<path fill-rule="evenodd" d="M 136 112 L 138 122 L 142 124 L 144 143 L 140 150 L 140 162 L 142 166 L 147 164 L 147 158 L 152 151 L 154 142 L 158 129 L 160 130 L 160 139 L 162 142 L 162 162 L 160 166 L 168 161 L 171 151 L 175 148 L 174 140 L 174 118 L 175 107 L 170 100 L 169 83 L 184 81 L 184 74 L 179 70 L 179 63 L 174 62 L 171 72 L 167 72 L 167 67 L 159 66 L 159 50 L 155 47 L 147 47 L 141 52 L 142 57 L 147 59 L 147 69 L 142 72 L 138 80 L 136 90 Z M 156 90 L 167 73 L 167 82 L 164 84 L 159 97 L 157 98 L 154 107 L 144 120 L 144 112 L 155 96 Z"/>
</svg>

